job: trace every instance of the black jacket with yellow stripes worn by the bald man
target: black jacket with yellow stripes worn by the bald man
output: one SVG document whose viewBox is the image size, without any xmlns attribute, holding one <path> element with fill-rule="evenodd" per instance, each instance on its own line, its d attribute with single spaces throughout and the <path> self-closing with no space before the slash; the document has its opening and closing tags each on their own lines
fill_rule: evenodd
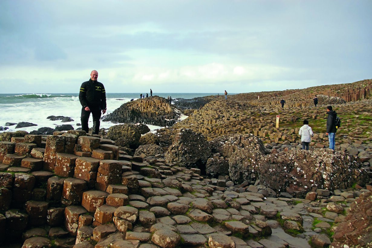
<svg viewBox="0 0 372 248">
<path fill-rule="evenodd" d="M 105 87 L 102 83 L 89 79 L 81 84 L 79 100 L 83 109 L 87 106 L 90 109 L 106 109 Z"/>
</svg>

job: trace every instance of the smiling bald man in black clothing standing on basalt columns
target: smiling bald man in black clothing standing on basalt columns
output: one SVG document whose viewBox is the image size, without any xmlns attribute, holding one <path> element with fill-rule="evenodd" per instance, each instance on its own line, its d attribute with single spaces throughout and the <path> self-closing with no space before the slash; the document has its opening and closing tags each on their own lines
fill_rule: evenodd
<svg viewBox="0 0 372 248">
<path fill-rule="evenodd" d="M 102 83 L 97 81 L 98 72 L 92 70 L 89 81 L 83 82 L 80 87 L 79 100 L 81 109 L 81 129 L 89 132 L 88 120 L 90 113 L 93 116 L 93 134 L 99 132 L 99 119 L 106 113 L 106 91 Z"/>
</svg>

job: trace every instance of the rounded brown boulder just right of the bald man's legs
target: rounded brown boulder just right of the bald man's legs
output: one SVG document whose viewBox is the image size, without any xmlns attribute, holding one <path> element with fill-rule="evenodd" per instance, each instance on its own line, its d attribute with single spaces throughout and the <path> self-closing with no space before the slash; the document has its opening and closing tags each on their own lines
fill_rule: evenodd
<svg viewBox="0 0 372 248">
<path fill-rule="evenodd" d="M 110 127 L 107 136 L 114 140 L 117 146 L 128 147 L 139 145 L 141 133 L 134 124 L 121 124 Z"/>
</svg>

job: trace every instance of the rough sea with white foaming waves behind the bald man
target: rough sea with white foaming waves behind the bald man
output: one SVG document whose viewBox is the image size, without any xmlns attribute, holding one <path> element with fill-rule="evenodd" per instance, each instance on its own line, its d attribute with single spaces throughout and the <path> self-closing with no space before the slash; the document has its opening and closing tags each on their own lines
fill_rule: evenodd
<svg viewBox="0 0 372 248">
<path fill-rule="evenodd" d="M 144 94 L 146 95 L 147 92 Z M 143 93 L 142 93 L 143 94 Z M 148 93 L 150 95 L 150 93 Z M 31 132 L 39 128 L 48 127 L 55 128 L 57 125 L 70 124 L 74 129 L 80 122 L 81 105 L 78 93 L 66 94 L 0 94 L 0 126 L 7 127 L 6 131 L 0 132 L 15 132 L 23 130 Z M 160 97 L 167 98 L 171 96 L 173 100 L 176 98 L 191 99 L 195 97 L 203 97 L 206 95 L 217 95 L 217 93 L 153 93 Z M 131 99 L 140 98 L 140 93 L 106 93 L 107 112 L 112 113 L 115 109 L 119 108 L 122 104 L 130 101 Z M 106 115 L 105 114 L 105 115 Z M 48 116 L 65 116 L 70 117 L 73 122 L 61 122 L 61 120 L 52 121 L 47 119 Z M 15 128 L 13 126 L 5 126 L 5 123 L 19 123 L 31 122 L 37 126 L 30 126 L 27 128 Z M 92 127 L 92 115 L 89 118 L 89 127 Z M 109 128 L 110 126 L 117 125 L 118 123 L 102 122 L 100 128 Z M 151 131 L 154 131 L 159 126 L 148 125 Z"/>
</svg>

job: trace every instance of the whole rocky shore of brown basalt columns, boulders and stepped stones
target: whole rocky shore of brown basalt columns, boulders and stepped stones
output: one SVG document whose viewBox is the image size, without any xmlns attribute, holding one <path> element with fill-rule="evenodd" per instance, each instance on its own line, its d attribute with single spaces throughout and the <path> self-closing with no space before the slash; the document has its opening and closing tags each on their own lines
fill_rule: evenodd
<svg viewBox="0 0 372 248">
<path fill-rule="evenodd" d="M 100 135 L 2 132 L 0 245 L 372 247 L 371 84 L 150 97 L 115 110 L 106 118 L 128 124 Z M 335 151 L 327 105 L 342 121 Z"/>
</svg>

